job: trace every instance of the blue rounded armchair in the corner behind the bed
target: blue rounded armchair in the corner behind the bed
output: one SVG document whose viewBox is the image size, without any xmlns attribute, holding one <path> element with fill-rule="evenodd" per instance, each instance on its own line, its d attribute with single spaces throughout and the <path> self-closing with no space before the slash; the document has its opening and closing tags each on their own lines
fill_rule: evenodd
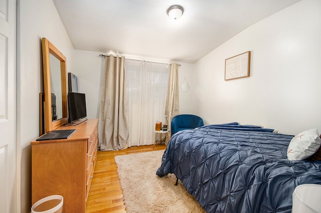
<svg viewBox="0 0 321 213">
<path fill-rule="evenodd" d="M 204 126 L 204 122 L 203 119 L 197 115 L 177 115 L 171 121 L 171 135 L 184 129 L 194 129 L 200 126 Z"/>
</svg>

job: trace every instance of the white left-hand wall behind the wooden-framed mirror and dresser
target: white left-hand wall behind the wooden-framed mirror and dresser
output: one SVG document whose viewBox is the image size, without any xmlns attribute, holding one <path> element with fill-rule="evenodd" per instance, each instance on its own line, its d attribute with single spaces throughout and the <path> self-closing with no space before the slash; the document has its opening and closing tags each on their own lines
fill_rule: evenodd
<svg viewBox="0 0 321 213">
<path fill-rule="evenodd" d="M 17 158 L 21 164 L 21 212 L 31 209 L 31 145 L 39 136 L 39 93 L 43 92 L 41 39 L 46 37 L 74 67 L 74 49 L 52 0 L 18 0 Z M 19 168 L 18 168 L 19 169 Z M 18 200 L 19 202 L 19 200 Z"/>
</svg>

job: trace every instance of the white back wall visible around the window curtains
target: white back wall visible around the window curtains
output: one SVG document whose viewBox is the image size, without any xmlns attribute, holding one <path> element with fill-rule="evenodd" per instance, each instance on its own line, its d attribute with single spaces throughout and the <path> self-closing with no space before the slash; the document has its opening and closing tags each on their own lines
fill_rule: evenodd
<svg viewBox="0 0 321 213">
<path fill-rule="evenodd" d="M 88 118 L 98 118 L 101 85 L 104 73 L 105 58 L 99 55 L 106 55 L 106 53 L 75 50 L 75 70 L 73 74 L 78 79 L 78 92 L 86 94 L 86 108 Z M 145 60 L 161 63 L 170 63 L 169 61 L 140 58 L 134 56 L 125 56 L 126 58 Z M 193 72 L 195 72 L 194 65 L 188 63 L 180 63 L 179 68 L 179 84 L 180 84 L 180 113 L 192 113 L 191 94 L 195 86 L 193 85 Z M 181 84 L 185 77 L 190 84 L 189 92 L 182 92 Z"/>
</svg>

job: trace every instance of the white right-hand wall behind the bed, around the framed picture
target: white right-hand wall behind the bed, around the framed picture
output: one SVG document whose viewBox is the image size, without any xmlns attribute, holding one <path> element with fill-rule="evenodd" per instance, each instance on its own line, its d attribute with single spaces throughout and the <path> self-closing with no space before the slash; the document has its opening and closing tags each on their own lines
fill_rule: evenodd
<svg viewBox="0 0 321 213">
<path fill-rule="evenodd" d="M 198 61 L 193 105 L 205 124 L 238 121 L 280 133 L 321 132 L 321 1 L 303 0 Z M 251 51 L 249 78 L 224 81 L 225 59 Z"/>
</svg>

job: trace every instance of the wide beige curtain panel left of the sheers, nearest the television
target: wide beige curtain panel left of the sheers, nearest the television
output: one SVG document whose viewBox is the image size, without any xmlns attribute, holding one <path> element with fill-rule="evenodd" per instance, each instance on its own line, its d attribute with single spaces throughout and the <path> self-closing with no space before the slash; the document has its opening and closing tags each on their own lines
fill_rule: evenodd
<svg viewBox="0 0 321 213">
<path fill-rule="evenodd" d="M 126 95 L 125 58 L 107 56 L 102 82 L 98 120 L 98 141 L 101 151 L 128 147 L 128 106 Z"/>
</svg>

